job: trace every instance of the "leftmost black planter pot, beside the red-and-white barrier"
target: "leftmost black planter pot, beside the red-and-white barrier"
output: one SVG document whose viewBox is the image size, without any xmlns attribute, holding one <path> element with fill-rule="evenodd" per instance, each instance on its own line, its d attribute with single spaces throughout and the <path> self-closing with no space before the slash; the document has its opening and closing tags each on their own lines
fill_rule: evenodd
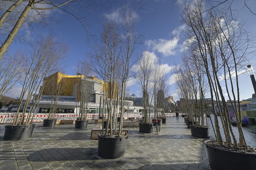
<svg viewBox="0 0 256 170">
<path fill-rule="evenodd" d="M 28 125 L 6 125 L 3 140 L 19 140 L 32 136 L 35 124 Z"/>
</svg>

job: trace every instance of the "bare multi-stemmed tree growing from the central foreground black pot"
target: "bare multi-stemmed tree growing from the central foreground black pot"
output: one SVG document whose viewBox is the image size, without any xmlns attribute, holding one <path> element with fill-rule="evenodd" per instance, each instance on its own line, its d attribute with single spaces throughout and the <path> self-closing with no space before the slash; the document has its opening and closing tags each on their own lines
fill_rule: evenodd
<svg viewBox="0 0 256 170">
<path fill-rule="evenodd" d="M 123 11 L 121 21 L 109 21 L 105 19 L 102 24 L 102 44 L 97 44 L 91 54 L 92 65 L 96 74 L 104 80 L 103 102 L 108 107 L 108 123 L 110 135 L 112 136 L 112 116 L 116 113 L 117 100 L 120 101 L 120 122 L 117 136 L 122 136 L 122 117 L 124 114 L 125 91 L 128 78 L 131 76 L 129 70 L 132 66 L 131 58 L 139 44 L 139 36 L 135 31 L 137 23 L 133 11 Z M 105 130 L 105 135 L 108 128 Z M 116 135 L 116 134 L 115 134 Z"/>
</svg>

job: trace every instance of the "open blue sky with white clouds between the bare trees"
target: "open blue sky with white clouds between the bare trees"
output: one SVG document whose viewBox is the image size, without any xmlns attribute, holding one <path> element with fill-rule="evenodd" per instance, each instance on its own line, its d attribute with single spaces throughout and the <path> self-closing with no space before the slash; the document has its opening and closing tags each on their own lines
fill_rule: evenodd
<svg viewBox="0 0 256 170">
<path fill-rule="evenodd" d="M 56 42 L 64 40 L 68 46 L 69 51 L 65 58 L 64 73 L 69 75 L 76 74 L 76 66 L 78 62 L 82 61 L 86 54 L 90 51 L 90 46 L 93 43 L 99 43 L 99 38 L 102 27 L 100 22 L 104 15 L 109 17 L 118 17 L 118 12 L 124 8 L 132 8 L 137 15 L 137 33 L 141 35 L 144 44 L 140 45 L 137 49 L 137 54 L 142 54 L 143 51 L 149 51 L 157 58 L 163 60 L 163 67 L 166 70 L 169 79 L 170 91 L 169 96 L 174 96 L 175 100 L 178 99 L 174 77 L 172 76 L 172 68 L 174 65 L 179 64 L 181 58 L 181 45 L 183 43 L 182 28 L 183 24 L 180 23 L 180 8 L 185 3 L 184 1 L 172 0 L 143 0 L 143 1 L 82 1 L 87 4 L 88 8 L 86 29 L 74 19 L 70 14 L 63 14 L 58 20 L 59 23 L 51 23 L 44 28 L 29 28 L 24 25 L 19 31 L 18 36 L 25 36 L 26 40 L 40 40 L 42 36 L 52 34 Z M 256 1 L 246 0 L 247 6 L 255 13 Z M 227 5 L 230 5 L 228 2 Z M 256 16 L 253 15 L 248 8 L 244 7 L 243 0 L 236 0 L 232 4 L 232 8 L 236 9 L 239 18 L 246 20 L 246 25 L 255 34 L 256 29 Z M 74 6 L 76 7 L 76 6 Z M 242 9 L 241 9 L 242 8 Z M 59 11 L 51 11 L 49 13 L 52 17 L 59 16 Z M 88 34 L 90 32 L 90 34 Z M 12 43 L 9 50 L 14 51 L 18 48 L 27 48 L 26 43 L 20 43 L 19 38 L 16 42 Z M 135 57 L 136 57 L 135 56 Z M 256 59 L 248 61 L 254 68 L 256 68 Z M 253 92 L 253 87 L 248 74 L 239 77 L 240 95 L 241 99 L 250 98 Z M 141 96 L 140 87 L 133 83 L 129 86 L 131 94 Z M 16 87 L 8 92 L 7 96 L 19 96 L 20 88 Z"/>
</svg>

